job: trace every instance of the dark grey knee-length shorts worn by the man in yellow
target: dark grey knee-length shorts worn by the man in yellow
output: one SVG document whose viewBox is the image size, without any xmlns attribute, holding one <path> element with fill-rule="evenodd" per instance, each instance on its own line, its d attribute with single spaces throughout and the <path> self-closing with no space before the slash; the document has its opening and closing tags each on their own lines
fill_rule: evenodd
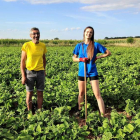
<svg viewBox="0 0 140 140">
<path fill-rule="evenodd" d="M 45 73 L 44 70 L 26 70 L 26 91 L 33 91 L 34 86 L 38 91 L 44 90 Z"/>
</svg>

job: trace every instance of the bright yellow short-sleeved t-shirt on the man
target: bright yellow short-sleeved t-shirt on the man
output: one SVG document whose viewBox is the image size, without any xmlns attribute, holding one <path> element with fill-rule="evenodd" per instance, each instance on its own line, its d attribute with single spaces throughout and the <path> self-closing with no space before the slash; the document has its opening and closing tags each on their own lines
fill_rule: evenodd
<svg viewBox="0 0 140 140">
<path fill-rule="evenodd" d="M 26 52 L 26 68 L 28 70 L 44 70 L 43 54 L 47 52 L 44 43 L 39 42 L 38 44 L 34 44 L 32 41 L 29 41 L 23 44 L 21 50 Z"/>
</svg>

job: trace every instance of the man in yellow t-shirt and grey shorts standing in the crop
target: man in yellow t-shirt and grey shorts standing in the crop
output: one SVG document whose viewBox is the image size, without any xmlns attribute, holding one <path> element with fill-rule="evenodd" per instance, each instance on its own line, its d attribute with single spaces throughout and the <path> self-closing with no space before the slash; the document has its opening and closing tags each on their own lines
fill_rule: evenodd
<svg viewBox="0 0 140 140">
<path fill-rule="evenodd" d="M 21 54 L 22 84 L 26 85 L 26 104 L 28 110 L 32 110 L 32 95 L 35 85 L 38 109 L 42 108 L 46 75 L 45 53 L 47 52 L 45 44 L 39 42 L 40 31 L 38 28 L 34 27 L 30 30 L 30 37 L 32 41 L 23 44 Z"/>
</svg>

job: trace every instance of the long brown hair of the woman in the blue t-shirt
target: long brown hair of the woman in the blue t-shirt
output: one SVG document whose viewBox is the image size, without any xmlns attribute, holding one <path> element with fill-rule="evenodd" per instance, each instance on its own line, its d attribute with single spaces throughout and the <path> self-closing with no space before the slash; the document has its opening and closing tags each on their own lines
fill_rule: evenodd
<svg viewBox="0 0 140 140">
<path fill-rule="evenodd" d="M 87 56 L 91 60 L 93 58 L 93 55 L 94 55 L 94 29 L 91 26 L 88 26 L 84 29 L 83 41 L 85 41 L 85 31 L 88 28 L 93 30 L 92 37 L 90 38 L 90 42 L 89 42 L 89 45 L 87 47 Z"/>
</svg>

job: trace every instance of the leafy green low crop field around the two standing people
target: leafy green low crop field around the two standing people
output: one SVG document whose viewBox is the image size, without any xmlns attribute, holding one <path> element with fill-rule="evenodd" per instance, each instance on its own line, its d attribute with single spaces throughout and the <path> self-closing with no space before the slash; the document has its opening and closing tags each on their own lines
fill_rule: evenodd
<svg viewBox="0 0 140 140">
<path fill-rule="evenodd" d="M 73 49 L 47 47 L 43 109 L 36 110 L 34 92 L 36 113 L 32 115 L 21 84 L 21 47 L 0 47 L 0 139 L 140 139 L 140 48 L 108 47 L 112 55 L 96 61 L 101 95 L 106 109 L 112 111 L 110 119 L 100 116 L 87 81 L 88 116 L 83 127 L 73 116 L 78 97 L 78 63 L 72 61 Z M 82 112 L 84 116 L 84 107 Z"/>
</svg>

